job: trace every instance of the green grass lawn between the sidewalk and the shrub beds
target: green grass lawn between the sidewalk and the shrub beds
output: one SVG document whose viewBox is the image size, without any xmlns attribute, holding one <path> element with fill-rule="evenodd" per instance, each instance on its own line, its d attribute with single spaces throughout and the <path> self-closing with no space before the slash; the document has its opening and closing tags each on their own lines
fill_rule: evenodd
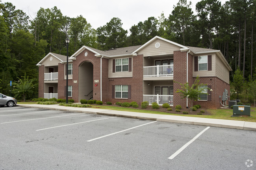
<svg viewBox="0 0 256 170">
<path fill-rule="evenodd" d="M 36 102 L 18 102 L 18 104 L 36 104 Z M 103 106 L 103 105 L 91 105 L 91 108 L 96 109 L 107 109 L 107 110 L 119 110 L 119 111 L 127 111 L 127 112 L 139 112 L 139 113 L 151 113 L 151 114 L 161 114 L 161 115 L 176 115 L 176 116 L 188 116 L 188 117 L 203 117 L 210 119 L 227 119 L 227 120 L 236 120 L 236 121 L 248 121 L 248 122 L 256 122 L 256 108 L 251 106 L 251 117 L 242 116 L 242 117 L 231 117 L 233 115 L 232 109 L 206 109 L 211 115 L 184 115 L 184 114 L 173 114 L 166 112 L 158 112 L 151 110 L 143 110 L 143 109 L 133 109 L 126 107 L 117 107 L 117 106 Z"/>
</svg>

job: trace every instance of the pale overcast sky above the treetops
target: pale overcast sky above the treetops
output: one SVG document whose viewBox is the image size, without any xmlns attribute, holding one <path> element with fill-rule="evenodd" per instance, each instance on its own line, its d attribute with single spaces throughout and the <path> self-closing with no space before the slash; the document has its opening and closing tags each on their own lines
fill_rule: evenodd
<svg viewBox="0 0 256 170">
<path fill-rule="evenodd" d="M 194 13 L 199 1 L 191 0 Z M 226 1 L 221 0 L 221 4 Z M 122 28 L 129 31 L 130 27 L 150 16 L 158 18 L 163 12 L 167 18 L 178 0 L 2 0 L 2 3 L 5 2 L 11 2 L 15 9 L 29 13 L 32 18 L 35 18 L 40 7 L 46 9 L 56 6 L 63 15 L 71 18 L 82 15 L 95 29 L 106 25 L 111 18 L 118 17 L 122 20 Z"/>
</svg>

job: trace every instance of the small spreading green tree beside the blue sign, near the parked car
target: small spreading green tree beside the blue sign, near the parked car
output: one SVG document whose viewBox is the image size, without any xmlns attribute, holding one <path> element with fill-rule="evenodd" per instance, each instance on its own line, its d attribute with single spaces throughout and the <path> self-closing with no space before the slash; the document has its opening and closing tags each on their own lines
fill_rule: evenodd
<svg viewBox="0 0 256 170">
<path fill-rule="evenodd" d="M 26 74 L 24 77 L 18 78 L 18 81 L 13 82 L 13 93 L 15 94 L 15 97 L 23 97 L 24 101 L 26 101 L 26 95 L 31 95 L 33 93 L 33 88 L 35 88 L 36 84 L 33 84 L 33 82 L 36 79 L 28 79 L 28 76 L 26 77 Z"/>
</svg>

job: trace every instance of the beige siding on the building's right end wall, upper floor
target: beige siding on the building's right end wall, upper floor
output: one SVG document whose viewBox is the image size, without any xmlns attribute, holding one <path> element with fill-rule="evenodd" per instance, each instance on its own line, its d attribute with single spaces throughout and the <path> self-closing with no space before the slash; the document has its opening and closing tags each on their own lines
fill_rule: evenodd
<svg viewBox="0 0 256 170">
<path fill-rule="evenodd" d="M 216 76 L 226 83 L 229 83 L 229 71 L 221 61 L 221 58 L 216 55 Z"/>
</svg>

